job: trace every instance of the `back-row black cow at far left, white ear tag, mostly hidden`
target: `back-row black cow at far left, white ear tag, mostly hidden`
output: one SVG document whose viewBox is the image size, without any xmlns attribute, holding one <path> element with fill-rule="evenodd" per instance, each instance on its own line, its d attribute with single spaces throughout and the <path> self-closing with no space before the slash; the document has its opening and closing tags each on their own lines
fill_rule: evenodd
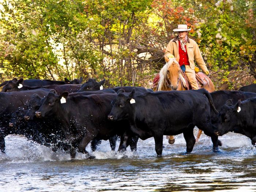
<svg viewBox="0 0 256 192">
<path fill-rule="evenodd" d="M 21 90 L 31 90 L 31 89 L 38 89 L 42 88 L 43 86 L 49 86 L 49 85 L 60 85 L 60 84 L 79 84 L 78 79 L 74 79 L 71 82 L 68 81 L 54 81 L 54 80 L 41 80 L 41 79 L 27 79 L 23 80 L 23 78 L 20 78 L 19 80 L 14 78 L 10 81 L 5 81 L 0 84 L 0 87 L 4 85 L 2 91 L 3 92 L 10 92 L 10 91 L 19 91 Z M 26 86 L 23 88 L 23 86 Z M 31 88 L 30 88 L 31 87 Z"/>
</svg>

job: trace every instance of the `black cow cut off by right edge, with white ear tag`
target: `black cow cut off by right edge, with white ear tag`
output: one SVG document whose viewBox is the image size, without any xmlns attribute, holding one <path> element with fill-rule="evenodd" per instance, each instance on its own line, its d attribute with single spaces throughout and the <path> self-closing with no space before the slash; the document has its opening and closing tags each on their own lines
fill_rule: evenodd
<svg viewBox="0 0 256 192">
<path fill-rule="evenodd" d="M 216 135 L 222 136 L 229 131 L 241 133 L 249 137 L 252 144 L 256 144 L 256 97 L 245 101 L 238 101 L 230 105 L 227 101 L 219 112 L 218 128 Z"/>
</svg>

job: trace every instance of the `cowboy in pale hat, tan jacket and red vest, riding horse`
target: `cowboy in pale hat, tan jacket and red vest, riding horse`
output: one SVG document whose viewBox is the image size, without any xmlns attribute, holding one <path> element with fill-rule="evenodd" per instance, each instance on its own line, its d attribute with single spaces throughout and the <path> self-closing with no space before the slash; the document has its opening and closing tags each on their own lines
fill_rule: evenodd
<svg viewBox="0 0 256 192">
<path fill-rule="evenodd" d="M 188 31 L 190 30 L 187 25 L 178 25 L 178 28 L 173 30 L 178 32 L 178 36 L 172 39 L 167 45 L 165 61 L 168 62 L 170 58 L 175 57 L 182 71 L 187 75 L 192 89 L 199 89 L 196 82 L 194 60 L 206 75 L 209 74 L 209 71 L 204 63 L 198 45 L 193 39 L 188 38 Z"/>
</svg>

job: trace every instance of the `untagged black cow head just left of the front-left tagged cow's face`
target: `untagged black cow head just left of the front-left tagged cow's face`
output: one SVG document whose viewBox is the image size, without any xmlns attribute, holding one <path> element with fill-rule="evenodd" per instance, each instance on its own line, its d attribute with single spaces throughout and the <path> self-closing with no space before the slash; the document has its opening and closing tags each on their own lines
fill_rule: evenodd
<svg viewBox="0 0 256 192">
<path fill-rule="evenodd" d="M 42 98 L 38 94 L 33 94 L 29 102 L 27 102 L 27 113 L 24 116 L 25 121 L 34 120 L 35 112 L 41 106 Z"/>
</svg>

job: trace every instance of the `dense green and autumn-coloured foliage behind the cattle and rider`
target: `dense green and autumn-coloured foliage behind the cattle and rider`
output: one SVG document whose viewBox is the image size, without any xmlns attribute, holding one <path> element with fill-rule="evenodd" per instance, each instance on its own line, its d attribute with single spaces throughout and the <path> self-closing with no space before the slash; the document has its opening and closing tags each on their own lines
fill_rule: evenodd
<svg viewBox="0 0 256 192">
<path fill-rule="evenodd" d="M 0 79 L 107 79 L 150 87 L 177 24 L 217 89 L 256 78 L 253 0 L 0 0 Z"/>
</svg>

